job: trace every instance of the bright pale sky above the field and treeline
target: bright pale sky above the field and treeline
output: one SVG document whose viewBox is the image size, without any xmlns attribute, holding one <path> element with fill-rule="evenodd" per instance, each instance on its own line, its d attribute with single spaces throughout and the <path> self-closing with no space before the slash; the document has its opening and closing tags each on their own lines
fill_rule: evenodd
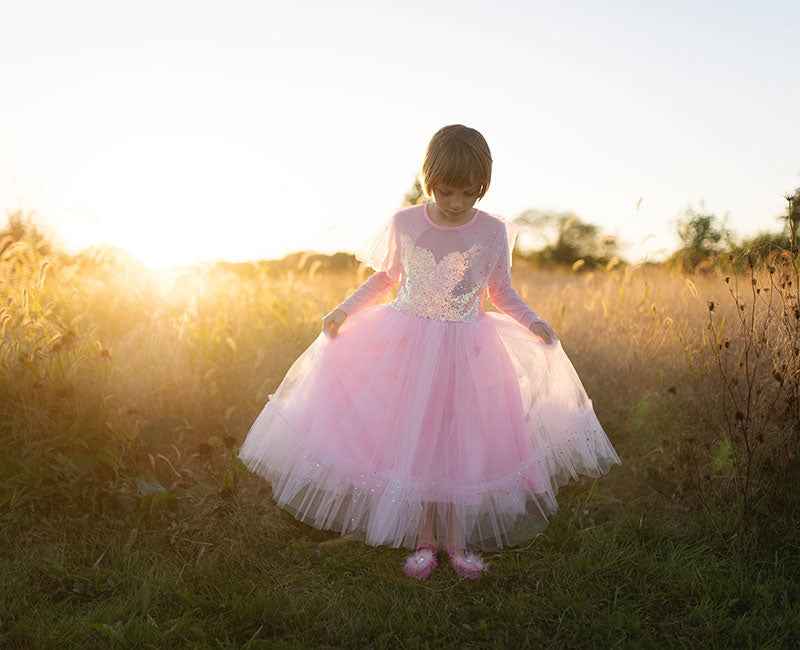
<svg viewBox="0 0 800 650">
<path fill-rule="evenodd" d="M 0 207 L 157 266 L 352 251 L 462 123 L 489 212 L 571 211 L 633 260 L 700 200 L 777 230 L 799 25 L 789 0 L 2 0 Z"/>
</svg>

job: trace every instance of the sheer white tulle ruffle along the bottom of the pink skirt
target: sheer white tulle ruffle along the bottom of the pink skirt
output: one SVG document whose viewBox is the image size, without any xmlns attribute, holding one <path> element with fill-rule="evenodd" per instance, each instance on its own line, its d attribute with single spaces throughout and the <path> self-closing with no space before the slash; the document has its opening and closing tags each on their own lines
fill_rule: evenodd
<svg viewBox="0 0 800 650">
<path fill-rule="evenodd" d="M 423 518 L 441 544 L 484 550 L 532 538 L 556 512 L 558 488 L 579 474 L 597 477 L 619 458 L 589 409 L 572 422 L 572 440 L 539 448 L 537 456 L 491 482 L 462 485 L 392 472 L 360 472 L 333 464 L 296 444 L 298 432 L 270 402 L 253 424 L 239 457 L 269 481 L 277 505 L 315 528 L 372 546 L 415 548 Z M 596 426 L 596 429 L 595 429 Z M 601 436 L 587 436 L 599 430 Z M 604 442 L 605 440 L 605 442 Z M 589 447 L 592 453 L 587 453 Z"/>
</svg>

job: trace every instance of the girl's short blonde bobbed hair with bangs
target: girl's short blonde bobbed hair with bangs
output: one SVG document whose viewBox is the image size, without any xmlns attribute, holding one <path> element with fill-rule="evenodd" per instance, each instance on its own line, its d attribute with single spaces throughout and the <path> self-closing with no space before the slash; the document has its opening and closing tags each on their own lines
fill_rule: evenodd
<svg viewBox="0 0 800 650">
<path fill-rule="evenodd" d="M 492 154 L 484 137 L 475 129 L 451 124 L 439 129 L 428 143 L 422 163 L 422 186 L 432 197 L 437 185 L 478 186 L 483 197 L 492 180 Z"/>
</svg>

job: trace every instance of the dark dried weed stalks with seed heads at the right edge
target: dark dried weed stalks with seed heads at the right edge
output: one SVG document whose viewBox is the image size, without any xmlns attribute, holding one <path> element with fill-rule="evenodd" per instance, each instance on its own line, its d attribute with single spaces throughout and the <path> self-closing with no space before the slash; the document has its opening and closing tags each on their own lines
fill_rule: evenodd
<svg viewBox="0 0 800 650">
<path fill-rule="evenodd" d="M 792 198 L 789 214 L 792 214 Z M 693 455 L 695 485 L 704 505 L 711 486 L 733 495 L 741 527 L 754 515 L 769 516 L 785 502 L 784 490 L 798 473 L 800 443 L 800 298 L 796 233 L 791 250 L 775 251 L 763 264 L 745 259 L 725 278 L 732 314 L 708 303 L 711 366 L 720 380 L 722 437 L 712 449 L 709 473 L 701 478 Z M 718 495 L 718 494 L 717 494 Z"/>
</svg>

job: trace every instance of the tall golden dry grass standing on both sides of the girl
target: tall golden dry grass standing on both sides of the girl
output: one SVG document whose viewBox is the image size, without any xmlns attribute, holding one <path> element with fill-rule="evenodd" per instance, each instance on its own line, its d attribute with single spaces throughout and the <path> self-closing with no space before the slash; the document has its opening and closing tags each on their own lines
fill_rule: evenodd
<svg viewBox="0 0 800 650">
<path fill-rule="evenodd" d="M 145 498 L 242 476 L 232 451 L 321 316 L 369 273 L 324 273 L 311 256 L 282 270 L 153 271 L 118 251 L 68 257 L 38 236 L 6 238 L 0 251 L 6 518 L 59 499 L 110 518 L 141 515 Z M 797 339 L 787 333 L 797 291 L 778 280 L 786 269 L 768 268 L 742 278 L 748 302 L 723 269 L 687 277 L 616 260 L 591 272 L 515 264 L 520 293 L 558 331 L 627 458 L 620 501 L 708 509 L 738 499 L 748 520 L 753 490 L 794 477 Z M 743 384 L 736 355 L 750 363 Z M 784 397 L 794 391 L 788 419 L 775 413 L 770 374 Z"/>
</svg>

